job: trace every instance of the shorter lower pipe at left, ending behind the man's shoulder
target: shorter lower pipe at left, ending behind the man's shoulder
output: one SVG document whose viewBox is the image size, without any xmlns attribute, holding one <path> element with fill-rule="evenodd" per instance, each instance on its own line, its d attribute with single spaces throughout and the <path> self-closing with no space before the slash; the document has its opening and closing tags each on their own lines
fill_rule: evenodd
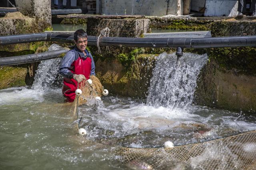
<svg viewBox="0 0 256 170">
<path fill-rule="evenodd" d="M 60 57 L 62 53 L 68 52 L 69 49 L 61 48 L 55 51 L 48 51 L 45 53 L 37 53 L 30 55 L 21 55 L 15 57 L 2 57 L 0 58 L 0 66 L 12 66 L 17 64 L 34 63 L 48 59 Z"/>
</svg>

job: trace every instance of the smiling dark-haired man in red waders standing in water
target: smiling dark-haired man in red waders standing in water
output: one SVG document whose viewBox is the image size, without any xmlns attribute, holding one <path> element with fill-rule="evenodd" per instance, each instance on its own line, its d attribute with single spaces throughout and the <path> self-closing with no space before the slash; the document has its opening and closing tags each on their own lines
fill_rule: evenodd
<svg viewBox="0 0 256 170">
<path fill-rule="evenodd" d="M 68 51 L 60 64 L 59 73 L 64 76 L 62 94 L 68 102 L 73 102 L 78 83 L 95 75 L 92 55 L 86 50 L 87 33 L 78 29 L 74 33 L 74 49 Z"/>
</svg>

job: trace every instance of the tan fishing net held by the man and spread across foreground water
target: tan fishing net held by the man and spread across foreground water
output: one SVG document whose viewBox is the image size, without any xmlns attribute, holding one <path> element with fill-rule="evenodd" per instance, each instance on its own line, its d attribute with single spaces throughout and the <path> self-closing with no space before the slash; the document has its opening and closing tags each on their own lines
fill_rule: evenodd
<svg viewBox="0 0 256 170">
<path fill-rule="evenodd" d="M 82 95 L 76 96 L 72 104 L 72 112 L 78 119 L 78 106 L 89 96 L 102 95 L 98 78 L 90 79 L 91 85 L 86 80 L 79 84 Z M 256 170 L 256 130 L 169 149 L 117 147 L 115 154 L 132 169 Z"/>
</svg>

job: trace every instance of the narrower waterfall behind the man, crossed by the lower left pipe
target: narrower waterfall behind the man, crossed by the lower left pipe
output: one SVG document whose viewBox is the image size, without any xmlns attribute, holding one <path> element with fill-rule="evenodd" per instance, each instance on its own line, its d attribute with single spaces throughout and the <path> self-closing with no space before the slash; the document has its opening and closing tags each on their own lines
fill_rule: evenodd
<svg viewBox="0 0 256 170">
<path fill-rule="evenodd" d="M 58 50 L 61 47 L 57 44 L 52 44 L 48 51 Z M 32 89 L 44 92 L 50 89 L 60 88 L 62 86 L 62 76 L 59 75 L 58 69 L 61 58 L 41 61 L 36 70 Z"/>
</svg>

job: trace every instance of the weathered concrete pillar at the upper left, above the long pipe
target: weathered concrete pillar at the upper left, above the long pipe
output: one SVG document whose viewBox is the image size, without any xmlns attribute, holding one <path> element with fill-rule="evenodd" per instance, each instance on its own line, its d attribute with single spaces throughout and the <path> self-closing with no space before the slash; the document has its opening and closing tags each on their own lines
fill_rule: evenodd
<svg viewBox="0 0 256 170">
<path fill-rule="evenodd" d="M 16 0 L 16 7 L 24 16 L 36 18 L 44 28 L 52 24 L 51 0 Z"/>
</svg>

